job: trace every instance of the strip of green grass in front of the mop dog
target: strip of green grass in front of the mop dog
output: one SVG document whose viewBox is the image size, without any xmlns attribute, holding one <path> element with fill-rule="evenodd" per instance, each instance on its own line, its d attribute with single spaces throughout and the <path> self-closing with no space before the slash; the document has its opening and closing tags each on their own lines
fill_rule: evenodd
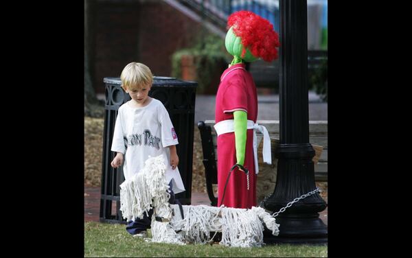
<svg viewBox="0 0 412 258">
<path fill-rule="evenodd" d="M 84 223 L 84 257 L 328 257 L 327 246 L 271 245 L 231 248 L 218 244 L 159 244 L 136 239 L 122 224 Z M 150 231 L 149 231 L 149 236 Z"/>
</svg>

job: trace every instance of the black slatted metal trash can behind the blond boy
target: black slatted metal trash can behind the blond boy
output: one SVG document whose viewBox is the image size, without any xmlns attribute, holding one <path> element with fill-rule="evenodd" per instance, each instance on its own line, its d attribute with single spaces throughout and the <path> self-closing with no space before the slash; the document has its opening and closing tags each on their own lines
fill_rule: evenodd
<svg viewBox="0 0 412 258">
<path fill-rule="evenodd" d="M 100 197 L 100 222 L 126 223 L 120 209 L 120 184 L 124 181 L 123 167 L 114 169 L 110 163 L 115 153 L 111 151 L 117 110 L 130 100 L 130 95 L 122 87 L 120 78 L 104 78 L 106 84 L 106 104 L 104 105 L 104 135 L 102 181 Z M 176 78 L 155 76 L 150 97 L 159 99 L 168 110 L 174 130 L 179 139 L 176 146 L 179 155 L 179 172 L 186 191 L 177 193 L 182 204 L 190 204 L 192 198 L 192 161 L 194 104 L 197 82 L 176 80 Z"/>
</svg>

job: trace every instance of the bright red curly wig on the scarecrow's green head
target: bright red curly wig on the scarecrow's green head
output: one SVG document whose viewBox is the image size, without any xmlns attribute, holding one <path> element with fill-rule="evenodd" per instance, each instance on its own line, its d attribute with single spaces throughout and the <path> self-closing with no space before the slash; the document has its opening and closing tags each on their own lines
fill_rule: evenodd
<svg viewBox="0 0 412 258">
<path fill-rule="evenodd" d="M 273 30 L 271 23 L 249 11 L 233 12 L 227 19 L 228 29 L 233 26 L 236 36 L 242 38 L 242 57 L 246 48 L 258 58 L 271 62 L 277 58 L 279 35 Z"/>
</svg>

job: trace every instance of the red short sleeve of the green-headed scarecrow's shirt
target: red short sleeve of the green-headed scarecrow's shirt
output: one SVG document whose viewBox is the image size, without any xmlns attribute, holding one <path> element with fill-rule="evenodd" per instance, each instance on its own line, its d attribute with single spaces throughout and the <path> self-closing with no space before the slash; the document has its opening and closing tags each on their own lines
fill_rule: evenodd
<svg viewBox="0 0 412 258">
<path fill-rule="evenodd" d="M 233 80 L 229 82 L 222 103 L 223 113 L 233 113 L 242 110 L 247 113 L 247 93 L 244 80 Z"/>
</svg>

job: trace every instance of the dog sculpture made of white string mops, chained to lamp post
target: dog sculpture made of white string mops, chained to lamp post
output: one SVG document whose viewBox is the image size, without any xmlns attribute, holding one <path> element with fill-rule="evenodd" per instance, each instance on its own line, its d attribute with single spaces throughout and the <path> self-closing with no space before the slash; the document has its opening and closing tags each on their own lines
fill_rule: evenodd
<svg viewBox="0 0 412 258">
<path fill-rule="evenodd" d="M 273 235 L 279 234 L 279 224 L 276 224 L 275 218 L 260 207 L 236 209 L 169 204 L 165 168 L 162 155 L 149 157 L 139 173 L 120 185 L 120 211 L 123 218 L 143 218 L 144 213 L 154 209 L 152 242 L 211 244 L 214 242 L 211 232 L 215 232 L 215 235 L 221 232 L 221 245 L 260 247 L 264 244 L 263 223 Z"/>
</svg>

